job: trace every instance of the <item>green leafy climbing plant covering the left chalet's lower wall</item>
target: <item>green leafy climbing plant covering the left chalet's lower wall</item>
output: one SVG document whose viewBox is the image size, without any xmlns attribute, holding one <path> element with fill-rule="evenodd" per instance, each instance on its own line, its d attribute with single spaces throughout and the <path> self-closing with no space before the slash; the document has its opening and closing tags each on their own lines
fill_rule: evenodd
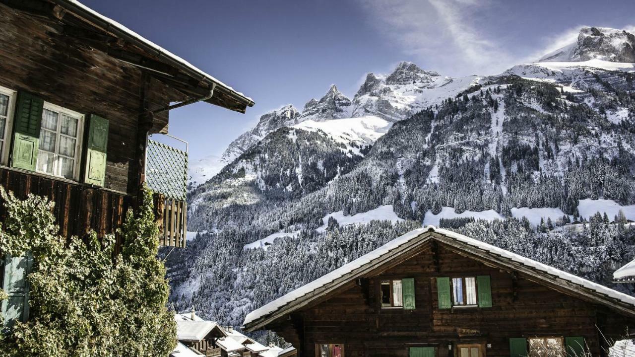
<svg viewBox="0 0 635 357">
<path fill-rule="evenodd" d="M 46 198 L 21 200 L 0 187 L 7 218 L 0 225 L 0 253 L 33 257 L 30 318 L 3 331 L 0 356 L 167 356 L 176 326 L 168 311 L 169 287 L 156 259 L 159 233 L 152 196 L 129 211 L 113 255 L 114 236 L 70 242 L 58 236 Z M 0 290 L 0 299 L 6 293 Z"/>
</svg>

